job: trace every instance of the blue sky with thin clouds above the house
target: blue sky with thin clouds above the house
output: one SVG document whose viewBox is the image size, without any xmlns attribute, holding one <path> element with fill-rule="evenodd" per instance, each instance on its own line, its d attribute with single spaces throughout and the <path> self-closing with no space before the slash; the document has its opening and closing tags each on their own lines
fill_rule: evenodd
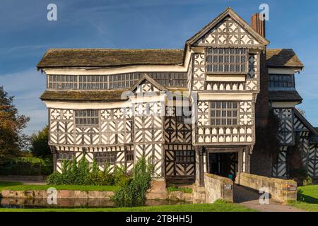
<svg viewBox="0 0 318 226">
<path fill-rule="evenodd" d="M 47 21 L 47 4 L 58 20 Z M 318 126 L 318 1 L 279 0 L 1 0 L 0 85 L 20 113 L 31 118 L 26 133 L 47 124 L 39 97 L 45 74 L 35 69 L 47 48 L 183 48 L 184 42 L 226 7 L 249 22 L 269 4 L 266 37 L 270 48 L 293 48 L 305 69 L 296 76 L 307 119 Z"/>
</svg>

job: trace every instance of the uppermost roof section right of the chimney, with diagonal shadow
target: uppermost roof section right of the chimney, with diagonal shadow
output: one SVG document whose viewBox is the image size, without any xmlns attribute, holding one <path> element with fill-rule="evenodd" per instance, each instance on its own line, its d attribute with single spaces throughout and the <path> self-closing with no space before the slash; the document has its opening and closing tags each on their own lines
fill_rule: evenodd
<svg viewBox="0 0 318 226">
<path fill-rule="evenodd" d="M 287 67 L 302 69 L 304 67 L 293 49 L 267 49 L 266 64 L 268 67 L 273 68 Z"/>
</svg>

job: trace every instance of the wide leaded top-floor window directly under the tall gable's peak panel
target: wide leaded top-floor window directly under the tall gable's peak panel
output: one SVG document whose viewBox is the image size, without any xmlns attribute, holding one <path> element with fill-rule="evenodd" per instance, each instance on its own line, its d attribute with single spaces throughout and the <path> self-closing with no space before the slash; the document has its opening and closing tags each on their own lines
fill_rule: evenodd
<svg viewBox="0 0 318 226">
<path fill-rule="evenodd" d="M 206 49 L 208 73 L 248 73 L 248 51 L 245 48 Z"/>
</svg>

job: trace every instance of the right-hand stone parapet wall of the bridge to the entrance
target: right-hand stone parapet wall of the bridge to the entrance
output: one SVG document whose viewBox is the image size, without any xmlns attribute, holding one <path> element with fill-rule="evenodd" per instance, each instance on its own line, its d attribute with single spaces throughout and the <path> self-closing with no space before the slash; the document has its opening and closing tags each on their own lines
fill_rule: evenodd
<svg viewBox="0 0 318 226">
<path fill-rule="evenodd" d="M 262 177 L 247 173 L 241 173 L 238 180 L 238 184 L 257 191 L 261 188 L 269 189 L 271 198 L 276 201 L 284 203 L 297 200 L 297 183 L 293 180 Z"/>
</svg>

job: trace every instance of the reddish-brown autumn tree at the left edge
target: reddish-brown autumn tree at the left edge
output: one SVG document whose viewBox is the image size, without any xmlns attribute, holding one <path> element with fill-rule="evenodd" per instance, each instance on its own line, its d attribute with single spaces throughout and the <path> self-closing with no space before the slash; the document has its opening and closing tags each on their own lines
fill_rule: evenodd
<svg viewBox="0 0 318 226">
<path fill-rule="evenodd" d="M 23 134 L 30 119 L 18 114 L 13 105 L 13 97 L 8 96 L 0 86 L 0 163 L 19 155 L 28 143 L 28 136 Z"/>
</svg>

